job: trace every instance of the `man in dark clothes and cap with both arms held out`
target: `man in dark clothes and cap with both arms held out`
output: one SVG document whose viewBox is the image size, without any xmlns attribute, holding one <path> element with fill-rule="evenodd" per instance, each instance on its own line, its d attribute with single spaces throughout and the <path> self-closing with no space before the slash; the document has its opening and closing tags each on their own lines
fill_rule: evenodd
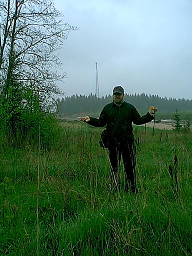
<svg viewBox="0 0 192 256">
<path fill-rule="evenodd" d="M 82 121 L 90 125 L 106 126 L 105 147 L 109 150 L 113 185 L 119 188 L 117 177 L 121 155 L 125 168 L 125 188 L 135 188 L 135 146 L 132 122 L 136 125 L 148 123 L 154 119 L 157 108 L 150 107 L 146 115 L 140 116 L 136 108 L 123 100 L 124 89 L 117 85 L 113 88 L 113 102 L 105 105 L 99 119 L 90 116 L 82 117 Z"/>
</svg>

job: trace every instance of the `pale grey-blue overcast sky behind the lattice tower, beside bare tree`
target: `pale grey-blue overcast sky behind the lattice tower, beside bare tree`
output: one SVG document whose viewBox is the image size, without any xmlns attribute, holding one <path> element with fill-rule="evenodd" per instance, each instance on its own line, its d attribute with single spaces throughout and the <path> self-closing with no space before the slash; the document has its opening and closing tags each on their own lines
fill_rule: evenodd
<svg viewBox="0 0 192 256">
<path fill-rule="evenodd" d="M 69 34 L 60 59 L 65 95 L 126 93 L 192 99 L 192 0 L 54 0 Z"/>
</svg>

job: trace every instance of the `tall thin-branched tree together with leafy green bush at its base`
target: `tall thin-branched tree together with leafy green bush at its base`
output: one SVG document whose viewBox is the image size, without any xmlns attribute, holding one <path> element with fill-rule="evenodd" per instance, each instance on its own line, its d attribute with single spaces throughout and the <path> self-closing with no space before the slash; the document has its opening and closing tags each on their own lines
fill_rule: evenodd
<svg viewBox="0 0 192 256">
<path fill-rule="evenodd" d="M 48 147 L 58 126 L 46 111 L 66 76 L 52 70 L 61 65 L 55 51 L 77 27 L 58 20 L 52 0 L 0 1 L 0 13 L 0 136 L 12 146 L 40 137 Z"/>
</svg>

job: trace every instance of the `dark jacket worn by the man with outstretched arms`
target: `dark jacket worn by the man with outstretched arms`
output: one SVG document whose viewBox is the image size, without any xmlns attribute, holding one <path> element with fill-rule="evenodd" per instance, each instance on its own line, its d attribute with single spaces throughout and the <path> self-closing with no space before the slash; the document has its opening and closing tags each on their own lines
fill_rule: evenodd
<svg viewBox="0 0 192 256">
<path fill-rule="evenodd" d="M 109 139 L 126 139 L 133 138 L 132 123 L 141 125 L 151 120 L 153 120 L 153 116 L 149 112 L 140 116 L 133 105 L 124 101 L 120 106 L 113 102 L 105 105 L 99 119 L 90 117 L 88 124 L 96 127 L 107 125 L 107 137 Z"/>
</svg>

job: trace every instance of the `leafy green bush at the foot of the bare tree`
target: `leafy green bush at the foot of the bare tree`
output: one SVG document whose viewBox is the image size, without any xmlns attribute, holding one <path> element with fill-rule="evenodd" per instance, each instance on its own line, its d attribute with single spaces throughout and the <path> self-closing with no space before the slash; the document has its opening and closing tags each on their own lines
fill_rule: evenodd
<svg viewBox="0 0 192 256">
<path fill-rule="evenodd" d="M 60 126 L 41 109 L 37 93 L 17 84 L 8 88 L 8 95 L 0 98 L 0 136 L 13 146 L 37 143 L 39 135 L 41 147 L 53 145 L 61 134 Z"/>
</svg>

